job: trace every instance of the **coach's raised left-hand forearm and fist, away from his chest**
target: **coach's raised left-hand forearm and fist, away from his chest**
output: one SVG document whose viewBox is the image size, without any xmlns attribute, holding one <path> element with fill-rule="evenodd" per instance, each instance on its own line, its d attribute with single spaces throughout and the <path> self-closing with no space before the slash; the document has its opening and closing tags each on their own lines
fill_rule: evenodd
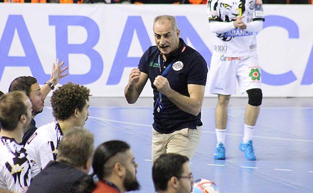
<svg viewBox="0 0 313 193">
<path fill-rule="evenodd" d="M 129 104 L 133 104 L 137 101 L 147 80 L 148 75 L 146 73 L 140 72 L 137 68 L 131 70 L 128 84 L 124 89 L 124 95 Z"/>
</svg>

